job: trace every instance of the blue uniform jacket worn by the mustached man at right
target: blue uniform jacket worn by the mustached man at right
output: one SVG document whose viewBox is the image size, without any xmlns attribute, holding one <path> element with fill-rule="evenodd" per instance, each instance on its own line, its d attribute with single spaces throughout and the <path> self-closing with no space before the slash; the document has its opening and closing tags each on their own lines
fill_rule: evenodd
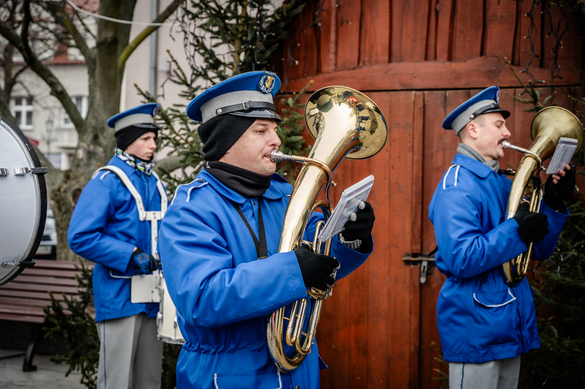
<svg viewBox="0 0 585 389">
<path fill-rule="evenodd" d="M 437 302 L 443 356 L 449 362 L 481 363 L 539 348 L 532 290 L 513 288 L 500 265 L 526 251 L 518 223 L 505 219 L 512 181 L 485 164 L 456 154 L 429 205 L 439 251 L 436 266 L 447 279 Z M 535 259 L 552 254 L 568 217 L 544 203 L 549 233 L 535 243 Z"/>
</svg>

